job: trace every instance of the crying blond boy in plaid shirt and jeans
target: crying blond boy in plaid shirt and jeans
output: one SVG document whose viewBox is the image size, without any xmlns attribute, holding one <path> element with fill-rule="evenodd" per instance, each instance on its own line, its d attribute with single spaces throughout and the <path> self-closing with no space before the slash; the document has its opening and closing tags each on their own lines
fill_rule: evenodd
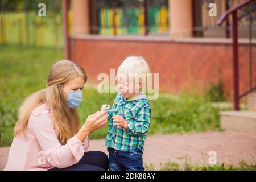
<svg viewBox="0 0 256 182">
<path fill-rule="evenodd" d="M 120 92 L 113 107 L 108 110 L 106 147 L 109 151 L 110 171 L 144 170 L 142 153 L 150 127 L 151 107 L 140 90 L 146 84 L 148 73 L 150 68 L 147 62 L 137 56 L 127 57 L 118 68 Z"/>
</svg>

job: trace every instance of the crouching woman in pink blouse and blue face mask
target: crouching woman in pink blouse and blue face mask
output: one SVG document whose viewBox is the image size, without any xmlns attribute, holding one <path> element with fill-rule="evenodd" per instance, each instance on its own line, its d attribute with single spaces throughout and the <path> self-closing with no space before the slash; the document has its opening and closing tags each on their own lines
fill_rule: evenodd
<svg viewBox="0 0 256 182">
<path fill-rule="evenodd" d="M 85 152 L 88 136 L 106 125 L 106 111 L 89 115 L 79 129 L 76 107 L 86 80 L 73 61 L 53 65 L 47 88 L 27 97 L 19 109 L 5 170 L 108 170 L 104 152 Z"/>
</svg>

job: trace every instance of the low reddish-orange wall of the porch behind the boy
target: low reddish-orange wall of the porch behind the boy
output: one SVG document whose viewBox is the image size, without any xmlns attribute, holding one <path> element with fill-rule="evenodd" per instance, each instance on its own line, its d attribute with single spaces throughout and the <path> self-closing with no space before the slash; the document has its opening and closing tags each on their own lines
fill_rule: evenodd
<svg viewBox="0 0 256 182">
<path fill-rule="evenodd" d="M 177 93 L 195 86 L 199 92 L 221 77 L 226 96 L 233 96 L 232 46 L 230 43 L 192 43 L 174 41 L 72 39 L 72 60 L 88 73 L 88 81 L 97 83 L 99 73 L 110 74 L 125 57 L 143 56 L 151 73 L 159 73 L 159 89 Z M 253 47 L 253 59 L 256 46 Z M 249 88 L 249 47 L 239 47 L 240 93 Z M 253 60 L 253 78 L 256 63 Z M 254 85 L 256 80 L 254 79 Z"/>
</svg>

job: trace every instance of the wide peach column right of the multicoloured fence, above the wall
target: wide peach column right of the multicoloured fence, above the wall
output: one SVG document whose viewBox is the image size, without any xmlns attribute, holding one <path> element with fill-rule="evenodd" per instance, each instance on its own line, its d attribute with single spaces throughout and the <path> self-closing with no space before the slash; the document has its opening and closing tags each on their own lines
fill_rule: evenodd
<svg viewBox="0 0 256 182">
<path fill-rule="evenodd" d="M 192 37 L 192 0 L 169 0 L 170 35 Z"/>
</svg>

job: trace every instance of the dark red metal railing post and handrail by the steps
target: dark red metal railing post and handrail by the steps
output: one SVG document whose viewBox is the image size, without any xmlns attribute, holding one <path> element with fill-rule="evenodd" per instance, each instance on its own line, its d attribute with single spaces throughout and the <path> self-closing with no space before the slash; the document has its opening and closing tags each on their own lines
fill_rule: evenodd
<svg viewBox="0 0 256 182">
<path fill-rule="evenodd" d="M 237 30 L 237 11 L 245 7 L 255 0 L 244 0 L 237 6 L 230 8 L 218 19 L 218 24 L 221 25 L 229 15 L 232 15 L 232 31 L 233 31 L 233 87 L 234 87 L 234 110 L 239 110 L 239 72 L 238 72 L 238 30 Z"/>
</svg>

